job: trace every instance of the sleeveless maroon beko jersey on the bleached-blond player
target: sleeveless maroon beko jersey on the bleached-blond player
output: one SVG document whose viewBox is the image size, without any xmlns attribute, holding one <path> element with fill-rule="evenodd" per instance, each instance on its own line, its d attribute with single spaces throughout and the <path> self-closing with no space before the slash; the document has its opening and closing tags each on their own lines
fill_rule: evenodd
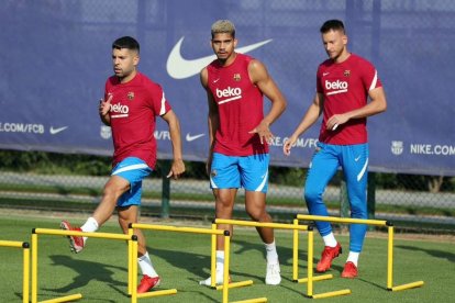
<svg viewBox="0 0 455 303">
<path fill-rule="evenodd" d="M 264 119 L 260 90 L 252 83 L 248 64 L 253 58 L 236 54 L 230 66 L 218 60 L 208 67 L 208 87 L 212 92 L 220 116 L 213 152 L 226 156 L 251 156 L 268 153 L 257 134 L 249 134 Z"/>
</svg>

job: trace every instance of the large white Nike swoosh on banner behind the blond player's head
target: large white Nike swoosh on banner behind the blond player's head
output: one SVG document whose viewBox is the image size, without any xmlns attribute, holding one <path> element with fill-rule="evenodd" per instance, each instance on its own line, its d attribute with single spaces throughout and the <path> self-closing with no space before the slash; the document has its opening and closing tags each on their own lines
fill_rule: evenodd
<svg viewBox="0 0 455 303">
<path fill-rule="evenodd" d="M 181 56 L 180 48 L 181 44 L 184 43 L 185 36 L 182 36 L 177 44 L 174 46 L 173 50 L 169 53 L 169 57 L 167 58 L 166 69 L 167 74 L 174 79 L 185 79 L 191 76 L 195 76 L 201 71 L 207 65 L 213 61 L 217 56 L 210 55 L 197 59 L 185 59 Z M 245 54 L 252 52 L 260 46 L 271 42 L 271 38 L 258 42 L 255 44 L 246 45 L 243 47 L 235 48 L 235 52 Z"/>
</svg>

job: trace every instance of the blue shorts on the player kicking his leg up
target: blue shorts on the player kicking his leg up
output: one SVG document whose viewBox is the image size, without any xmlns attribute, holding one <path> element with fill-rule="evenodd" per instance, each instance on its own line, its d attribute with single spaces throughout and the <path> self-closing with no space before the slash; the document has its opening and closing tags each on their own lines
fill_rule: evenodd
<svg viewBox="0 0 455 303">
<path fill-rule="evenodd" d="M 119 176 L 130 182 L 130 190 L 116 201 L 116 206 L 141 205 L 142 180 L 152 169 L 140 158 L 129 157 L 112 169 L 111 176 Z"/>
</svg>

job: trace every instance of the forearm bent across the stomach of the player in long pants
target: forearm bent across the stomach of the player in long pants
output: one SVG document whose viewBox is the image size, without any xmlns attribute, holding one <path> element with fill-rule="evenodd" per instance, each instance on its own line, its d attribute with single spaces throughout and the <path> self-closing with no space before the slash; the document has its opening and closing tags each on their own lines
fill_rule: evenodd
<svg viewBox="0 0 455 303">
<path fill-rule="evenodd" d="M 335 124 L 346 123 L 351 119 L 367 117 L 386 111 L 387 101 L 384 88 L 380 87 L 370 90 L 368 97 L 370 101 L 365 106 L 343 114 L 334 114 L 328 120 L 325 126 L 332 130 Z"/>
</svg>

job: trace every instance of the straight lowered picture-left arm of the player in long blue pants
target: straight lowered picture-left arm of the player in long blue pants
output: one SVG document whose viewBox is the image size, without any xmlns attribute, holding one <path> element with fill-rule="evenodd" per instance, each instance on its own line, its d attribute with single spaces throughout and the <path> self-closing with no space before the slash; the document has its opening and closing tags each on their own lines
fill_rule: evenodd
<svg viewBox="0 0 455 303">
<path fill-rule="evenodd" d="M 282 153 L 289 156 L 290 149 L 301 134 L 303 134 L 311 125 L 313 125 L 322 113 L 324 104 L 324 96 L 317 93 L 313 99 L 313 103 L 308 108 L 300 124 L 293 131 L 292 135 L 285 142 L 282 146 Z"/>
</svg>

